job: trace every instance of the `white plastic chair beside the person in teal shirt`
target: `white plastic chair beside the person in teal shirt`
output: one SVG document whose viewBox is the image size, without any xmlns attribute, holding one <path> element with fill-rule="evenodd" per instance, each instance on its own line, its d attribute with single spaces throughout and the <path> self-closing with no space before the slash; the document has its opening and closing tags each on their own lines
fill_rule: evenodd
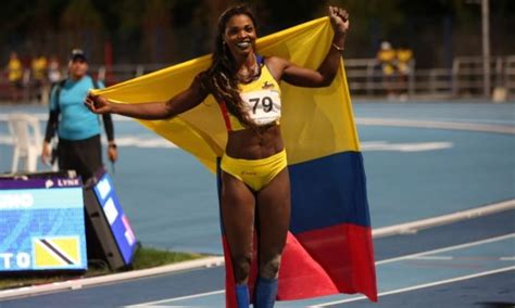
<svg viewBox="0 0 515 308">
<path fill-rule="evenodd" d="M 11 172 L 17 172 L 18 165 L 20 171 L 35 172 L 42 144 L 38 118 L 28 114 L 10 114 L 8 121 L 14 147 Z"/>
</svg>

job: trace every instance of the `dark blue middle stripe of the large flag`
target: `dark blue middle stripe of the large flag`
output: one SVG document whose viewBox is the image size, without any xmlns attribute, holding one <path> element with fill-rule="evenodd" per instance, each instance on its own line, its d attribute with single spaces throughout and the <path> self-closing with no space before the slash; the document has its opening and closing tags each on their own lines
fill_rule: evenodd
<svg viewBox="0 0 515 308">
<path fill-rule="evenodd" d="M 341 223 L 370 227 L 362 153 L 290 165 L 289 172 L 293 234 Z"/>
</svg>

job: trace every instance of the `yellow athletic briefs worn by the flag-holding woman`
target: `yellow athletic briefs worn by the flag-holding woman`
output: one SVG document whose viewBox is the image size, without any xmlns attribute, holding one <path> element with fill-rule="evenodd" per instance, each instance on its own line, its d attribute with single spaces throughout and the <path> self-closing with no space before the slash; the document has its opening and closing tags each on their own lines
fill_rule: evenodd
<svg viewBox="0 0 515 308">
<path fill-rule="evenodd" d="M 240 159 L 224 154 L 222 170 L 242 181 L 254 191 L 262 190 L 288 165 L 286 150 L 263 159 Z"/>
</svg>

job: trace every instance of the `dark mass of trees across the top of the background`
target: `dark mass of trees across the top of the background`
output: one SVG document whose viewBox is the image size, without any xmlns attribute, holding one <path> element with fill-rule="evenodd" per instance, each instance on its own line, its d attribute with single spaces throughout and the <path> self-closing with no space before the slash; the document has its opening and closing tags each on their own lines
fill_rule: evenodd
<svg viewBox="0 0 515 308">
<path fill-rule="evenodd" d="M 0 55 L 22 59 L 33 50 L 66 56 L 85 44 L 93 63 L 103 63 L 104 44 L 115 63 L 177 63 L 211 52 L 219 13 L 249 2 L 260 36 L 324 16 L 328 4 L 349 10 L 352 30 L 346 56 L 374 57 L 382 40 L 411 47 L 417 66 L 449 66 L 459 55 L 479 55 L 480 7 L 473 0 L 8 0 L 0 10 Z M 491 0 L 493 55 L 515 53 L 515 1 Z"/>
</svg>

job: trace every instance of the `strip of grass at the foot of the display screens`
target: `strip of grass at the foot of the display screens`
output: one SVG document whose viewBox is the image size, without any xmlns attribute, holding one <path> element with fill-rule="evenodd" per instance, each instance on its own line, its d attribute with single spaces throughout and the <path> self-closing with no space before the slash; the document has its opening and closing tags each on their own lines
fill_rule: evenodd
<svg viewBox="0 0 515 308">
<path fill-rule="evenodd" d="M 14 288 L 22 286 L 30 286 L 38 284 L 47 284 L 59 281 L 66 281 L 77 278 L 89 278 L 98 277 L 103 274 L 110 274 L 122 271 L 148 269 L 169 264 L 176 264 L 186 260 L 199 259 L 205 257 L 199 254 L 188 254 L 188 253 L 175 253 L 169 251 L 160 251 L 155 248 L 145 248 L 139 247 L 136 251 L 136 254 L 133 259 L 133 264 L 129 269 L 121 271 L 112 271 L 109 269 L 108 265 L 103 261 L 90 261 L 88 265 L 88 270 L 86 272 L 68 272 L 68 273 L 58 273 L 58 272 L 30 272 L 24 274 L 12 273 L 0 278 L 0 290 Z"/>
</svg>

